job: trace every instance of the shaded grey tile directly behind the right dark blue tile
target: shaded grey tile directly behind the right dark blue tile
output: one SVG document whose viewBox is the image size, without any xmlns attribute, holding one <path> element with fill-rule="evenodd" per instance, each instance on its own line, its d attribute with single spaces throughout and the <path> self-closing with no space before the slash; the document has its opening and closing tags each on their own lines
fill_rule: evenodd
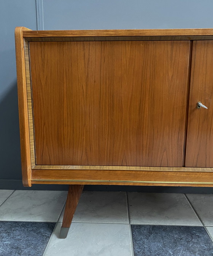
<svg viewBox="0 0 213 256">
<path fill-rule="evenodd" d="M 183 194 L 128 193 L 131 224 L 202 226 Z"/>
</svg>

